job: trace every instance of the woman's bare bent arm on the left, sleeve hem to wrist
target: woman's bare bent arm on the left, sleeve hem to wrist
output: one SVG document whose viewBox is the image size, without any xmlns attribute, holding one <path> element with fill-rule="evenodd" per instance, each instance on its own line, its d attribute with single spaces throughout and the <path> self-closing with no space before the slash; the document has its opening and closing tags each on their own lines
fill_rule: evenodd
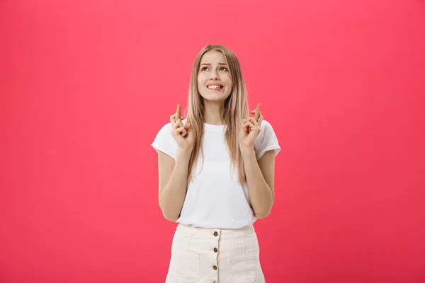
<svg viewBox="0 0 425 283">
<path fill-rule="evenodd" d="M 190 158 L 191 150 L 180 150 L 176 161 L 158 151 L 159 207 L 165 219 L 169 221 L 179 219 L 186 197 Z"/>
</svg>

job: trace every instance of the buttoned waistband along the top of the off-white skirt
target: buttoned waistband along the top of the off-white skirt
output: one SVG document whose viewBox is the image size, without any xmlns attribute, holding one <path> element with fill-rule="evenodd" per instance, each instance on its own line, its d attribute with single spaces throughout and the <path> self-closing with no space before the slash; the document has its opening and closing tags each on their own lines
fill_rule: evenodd
<svg viewBox="0 0 425 283">
<path fill-rule="evenodd" d="M 176 231 L 186 233 L 191 236 L 200 236 L 200 237 L 217 236 L 220 238 L 237 238 L 240 236 L 246 236 L 251 233 L 255 233 L 255 229 L 252 224 L 244 226 L 239 229 L 211 229 L 211 228 L 189 226 L 189 225 L 179 223 L 179 225 L 177 225 Z"/>
</svg>

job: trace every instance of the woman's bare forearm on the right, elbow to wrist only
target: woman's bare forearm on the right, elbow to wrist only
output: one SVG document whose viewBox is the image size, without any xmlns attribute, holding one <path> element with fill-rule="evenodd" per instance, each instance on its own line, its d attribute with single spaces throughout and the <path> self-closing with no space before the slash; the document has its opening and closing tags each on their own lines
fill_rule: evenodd
<svg viewBox="0 0 425 283">
<path fill-rule="evenodd" d="M 261 173 L 254 149 L 242 150 L 249 200 L 258 219 L 268 216 L 273 206 L 273 192 Z"/>
</svg>

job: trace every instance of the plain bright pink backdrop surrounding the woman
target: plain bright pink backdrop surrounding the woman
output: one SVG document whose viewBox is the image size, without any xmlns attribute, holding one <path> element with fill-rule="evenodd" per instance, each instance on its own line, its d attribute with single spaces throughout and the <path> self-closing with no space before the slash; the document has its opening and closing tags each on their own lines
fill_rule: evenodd
<svg viewBox="0 0 425 283">
<path fill-rule="evenodd" d="M 0 282 L 164 282 L 150 147 L 208 43 L 278 135 L 267 283 L 425 282 L 425 2 L 1 1 Z"/>
</svg>

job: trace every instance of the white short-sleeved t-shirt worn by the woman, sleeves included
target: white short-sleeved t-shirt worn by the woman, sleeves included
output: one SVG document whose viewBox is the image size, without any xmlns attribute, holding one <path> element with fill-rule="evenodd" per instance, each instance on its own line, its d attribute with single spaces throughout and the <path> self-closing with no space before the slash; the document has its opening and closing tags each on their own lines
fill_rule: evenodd
<svg viewBox="0 0 425 283">
<path fill-rule="evenodd" d="M 183 120 L 184 124 L 186 120 Z M 202 161 L 202 154 L 199 153 L 194 178 L 188 181 L 186 198 L 177 219 L 181 224 L 212 229 L 239 229 L 256 221 L 246 182 L 240 185 L 237 171 L 230 171 L 226 128 L 227 125 L 204 124 L 205 159 Z M 171 123 L 159 130 L 152 146 L 176 159 L 179 145 L 171 135 Z M 257 160 L 266 151 L 274 150 L 275 156 L 280 151 L 273 127 L 265 120 L 261 123 L 254 150 Z"/>
</svg>

